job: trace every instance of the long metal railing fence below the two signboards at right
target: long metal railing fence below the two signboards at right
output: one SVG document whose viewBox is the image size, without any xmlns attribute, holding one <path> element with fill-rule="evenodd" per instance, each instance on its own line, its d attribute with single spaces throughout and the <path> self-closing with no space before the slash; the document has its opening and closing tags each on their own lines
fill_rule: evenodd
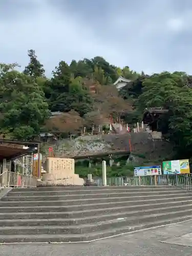
<svg viewBox="0 0 192 256">
<path fill-rule="evenodd" d="M 97 186 L 102 186 L 102 179 L 98 179 Z M 192 175 L 157 175 L 157 176 L 133 176 L 106 178 L 107 186 L 151 186 L 151 185 L 175 185 L 192 190 Z"/>
</svg>

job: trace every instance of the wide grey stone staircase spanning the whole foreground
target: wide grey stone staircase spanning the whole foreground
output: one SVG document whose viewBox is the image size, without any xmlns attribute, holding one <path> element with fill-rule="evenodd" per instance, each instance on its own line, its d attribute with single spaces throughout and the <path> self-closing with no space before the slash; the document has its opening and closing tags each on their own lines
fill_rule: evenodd
<svg viewBox="0 0 192 256">
<path fill-rule="evenodd" d="M 79 242 L 192 219 L 175 186 L 14 188 L 0 201 L 0 243 Z"/>
</svg>

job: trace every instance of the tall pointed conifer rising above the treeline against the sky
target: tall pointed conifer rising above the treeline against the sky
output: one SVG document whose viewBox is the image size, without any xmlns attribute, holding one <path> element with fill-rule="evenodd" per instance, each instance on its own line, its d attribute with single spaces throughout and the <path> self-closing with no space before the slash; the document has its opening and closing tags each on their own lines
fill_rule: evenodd
<svg viewBox="0 0 192 256">
<path fill-rule="evenodd" d="M 28 66 L 25 67 L 24 74 L 32 77 L 45 77 L 44 66 L 39 62 L 35 55 L 35 50 L 29 50 L 28 56 L 30 58 Z"/>
</svg>

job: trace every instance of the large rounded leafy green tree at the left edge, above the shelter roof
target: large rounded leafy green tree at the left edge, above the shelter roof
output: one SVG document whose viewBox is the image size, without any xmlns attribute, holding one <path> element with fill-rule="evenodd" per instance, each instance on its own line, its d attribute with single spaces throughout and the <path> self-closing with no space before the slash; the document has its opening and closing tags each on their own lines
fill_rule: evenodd
<svg viewBox="0 0 192 256">
<path fill-rule="evenodd" d="M 37 136 L 49 110 L 44 92 L 34 78 L 11 65 L 0 65 L 0 92 L 1 132 L 16 139 Z"/>
</svg>

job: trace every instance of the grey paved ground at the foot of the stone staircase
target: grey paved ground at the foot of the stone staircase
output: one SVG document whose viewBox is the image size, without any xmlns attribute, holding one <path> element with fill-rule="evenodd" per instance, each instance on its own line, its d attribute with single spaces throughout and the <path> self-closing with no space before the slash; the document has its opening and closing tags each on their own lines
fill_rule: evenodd
<svg viewBox="0 0 192 256">
<path fill-rule="evenodd" d="M 191 256 L 192 221 L 81 244 L 1 245 L 1 256 Z"/>
</svg>

